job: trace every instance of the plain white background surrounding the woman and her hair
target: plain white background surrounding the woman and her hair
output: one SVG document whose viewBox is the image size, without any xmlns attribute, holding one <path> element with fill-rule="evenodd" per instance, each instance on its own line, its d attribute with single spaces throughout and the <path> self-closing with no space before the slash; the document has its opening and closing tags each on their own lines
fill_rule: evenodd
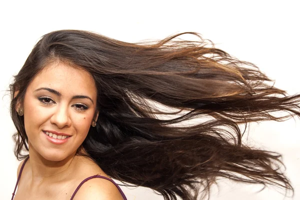
<svg viewBox="0 0 300 200">
<path fill-rule="evenodd" d="M 18 161 L 13 155 L 9 94 L 5 92 L 39 37 L 58 29 L 95 31 L 136 42 L 196 31 L 241 60 L 260 67 L 288 94 L 299 89 L 299 5 L 297 0 L 19 0 L 0 2 L 0 200 L 11 198 Z M 283 155 L 286 175 L 300 200 L 299 119 L 263 122 L 250 127 L 249 140 Z M 118 183 L 118 182 L 117 182 Z M 128 200 L 162 200 L 145 188 L 121 187 Z M 211 200 L 282 200 L 274 188 L 224 181 Z M 286 200 L 290 200 L 286 198 Z"/>
</svg>

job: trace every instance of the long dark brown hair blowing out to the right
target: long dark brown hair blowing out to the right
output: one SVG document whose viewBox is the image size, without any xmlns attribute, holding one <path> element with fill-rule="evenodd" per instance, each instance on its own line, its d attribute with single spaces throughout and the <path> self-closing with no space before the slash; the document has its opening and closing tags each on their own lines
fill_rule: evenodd
<svg viewBox="0 0 300 200">
<path fill-rule="evenodd" d="M 196 39 L 179 39 L 186 34 Z M 288 96 L 257 66 L 194 32 L 138 43 L 82 30 L 43 35 L 10 85 L 18 160 L 28 156 L 28 139 L 16 105 L 56 61 L 95 81 L 99 116 L 79 149 L 111 178 L 150 188 L 164 200 L 209 199 L 218 178 L 293 192 L 279 169 L 281 155 L 244 144 L 240 125 L 300 116 L 300 95 Z"/>
</svg>

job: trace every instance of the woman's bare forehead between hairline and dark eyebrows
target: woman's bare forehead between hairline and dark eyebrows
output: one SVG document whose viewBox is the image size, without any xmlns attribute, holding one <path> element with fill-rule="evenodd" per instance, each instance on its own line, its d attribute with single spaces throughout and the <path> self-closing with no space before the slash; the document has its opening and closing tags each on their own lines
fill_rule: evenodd
<svg viewBox="0 0 300 200">
<path fill-rule="evenodd" d="M 45 66 L 29 84 L 28 88 L 49 87 L 65 94 L 88 94 L 96 97 L 96 86 L 92 76 L 79 67 L 62 62 Z"/>
</svg>

